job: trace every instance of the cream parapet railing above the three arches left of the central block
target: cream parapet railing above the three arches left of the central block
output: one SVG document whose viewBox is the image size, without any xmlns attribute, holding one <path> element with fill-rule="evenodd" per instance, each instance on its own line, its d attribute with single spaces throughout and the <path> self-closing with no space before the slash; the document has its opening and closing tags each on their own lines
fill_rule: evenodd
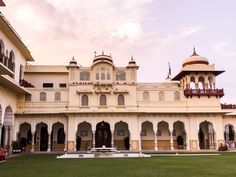
<svg viewBox="0 0 236 177">
<path fill-rule="evenodd" d="M 18 108 L 67 108 L 69 105 L 69 102 L 67 101 L 52 101 L 52 102 L 44 102 L 44 101 L 38 101 L 38 102 L 18 102 L 17 107 Z"/>
</svg>

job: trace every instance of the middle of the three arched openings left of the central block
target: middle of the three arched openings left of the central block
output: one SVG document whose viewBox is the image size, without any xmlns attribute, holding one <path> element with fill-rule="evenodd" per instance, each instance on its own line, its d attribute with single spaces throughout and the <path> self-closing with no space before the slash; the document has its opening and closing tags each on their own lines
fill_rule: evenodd
<svg viewBox="0 0 236 177">
<path fill-rule="evenodd" d="M 47 151 L 48 150 L 48 126 L 41 122 L 36 126 L 36 144 L 35 150 Z"/>
</svg>

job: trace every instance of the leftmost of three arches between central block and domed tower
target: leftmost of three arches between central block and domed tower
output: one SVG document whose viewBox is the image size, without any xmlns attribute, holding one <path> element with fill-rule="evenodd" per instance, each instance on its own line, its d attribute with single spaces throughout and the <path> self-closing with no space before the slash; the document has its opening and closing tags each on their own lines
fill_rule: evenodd
<svg viewBox="0 0 236 177">
<path fill-rule="evenodd" d="M 145 121 L 141 125 L 141 149 L 155 150 L 155 133 L 153 131 L 153 124 Z"/>
</svg>

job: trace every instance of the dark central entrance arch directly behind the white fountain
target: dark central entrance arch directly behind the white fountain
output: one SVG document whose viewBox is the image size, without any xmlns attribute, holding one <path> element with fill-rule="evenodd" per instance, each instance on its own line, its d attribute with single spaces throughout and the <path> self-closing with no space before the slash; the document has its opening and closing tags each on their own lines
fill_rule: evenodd
<svg viewBox="0 0 236 177">
<path fill-rule="evenodd" d="M 96 126 L 95 147 L 111 147 L 111 130 L 107 122 L 100 122 Z"/>
</svg>

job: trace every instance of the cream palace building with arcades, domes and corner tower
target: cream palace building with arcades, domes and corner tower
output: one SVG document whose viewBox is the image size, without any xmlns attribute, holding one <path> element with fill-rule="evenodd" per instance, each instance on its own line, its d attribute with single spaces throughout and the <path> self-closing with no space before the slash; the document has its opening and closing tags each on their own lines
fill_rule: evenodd
<svg viewBox="0 0 236 177">
<path fill-rule="evenodd" d="M 0 143 L 25 151 L 217 150 L 235 147 L 236 107 L 221 105 L 223 70 L 193 54 L 163 82 L 137 82 L 133 58 L 102 53 L 81 66 L 29 65 L 30 51 L 0 15 Z"/>
</svg>

